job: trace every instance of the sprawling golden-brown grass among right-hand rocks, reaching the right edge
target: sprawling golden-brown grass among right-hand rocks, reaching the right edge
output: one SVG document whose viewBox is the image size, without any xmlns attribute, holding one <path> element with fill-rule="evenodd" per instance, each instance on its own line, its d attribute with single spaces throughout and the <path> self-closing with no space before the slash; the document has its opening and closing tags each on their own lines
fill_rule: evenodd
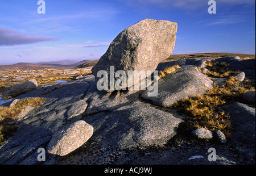
<svg viewBox="0 0 256 176">
<path fill-rule="evenodd" d="M 230 137 L 230 129 L 232 128 L 230 116 L 221 111 L 220 106 L 229 100 L 242 101 L 242 96 L 246 91 L 255 91 L 255 82 L 238 81 L 232 76 L 235 72 L 227 69 L 225 63 L 208 62 L 207 64 L 208 69 L 212 69 L 212 72 L 215 70 L 216 77 L 228 78 L 225 86 L 220 88 L 213 84 L 213 89 L 210 89 L 207 94 L 186 98 L 175 103 L 174 107 L 189 116 L 184 128 L 192 130 L 203 127 L 210 131 L 220 129 L 227 137 Z M 212 72 L 210 76 L 213 76 Z"/>
</svg>

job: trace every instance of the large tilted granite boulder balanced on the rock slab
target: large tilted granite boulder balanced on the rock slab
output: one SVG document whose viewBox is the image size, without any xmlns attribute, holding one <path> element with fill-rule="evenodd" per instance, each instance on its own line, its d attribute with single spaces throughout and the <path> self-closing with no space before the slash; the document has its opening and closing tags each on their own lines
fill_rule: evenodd
<svg viewBox="0 0 256 176">
<path fill-rule="evenodd" d="M 101 75 L 97 77 L 100 70 L 106 71 L 108 78 L 118 70 L 124 71 L 127 76 L 129 70 L 150 71 L 141 80 L 150 76 L 161 61 L 170 57 L 175 46 L 176 32 L 177 23 L 167 20 L 144 19 L 126 28 L 115 37 L 106 53 L 93 66 L 92 73 L 96 82 L 101 79 Z M 110 66 L 114 66 L 113 71 Z M 115 90 L 108 81 L 109 89 L 104 90 Z M 126 85 L 125 88 L 128 83 Z"/>
</svg>

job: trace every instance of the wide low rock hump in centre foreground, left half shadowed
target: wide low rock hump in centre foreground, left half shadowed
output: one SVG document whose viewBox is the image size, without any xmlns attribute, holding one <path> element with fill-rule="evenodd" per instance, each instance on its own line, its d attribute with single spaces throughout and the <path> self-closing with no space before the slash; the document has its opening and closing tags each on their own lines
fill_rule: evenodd
<svg viewBox="0 0 256 176">
<path fill-rule="evenodd" d="M 84 120 L 94 127 L 92 141 L 100 148 L 115 146 L 119 149 L 163 145 L 176 135 L 183 121 L 139 101 Z"/>
</svg>

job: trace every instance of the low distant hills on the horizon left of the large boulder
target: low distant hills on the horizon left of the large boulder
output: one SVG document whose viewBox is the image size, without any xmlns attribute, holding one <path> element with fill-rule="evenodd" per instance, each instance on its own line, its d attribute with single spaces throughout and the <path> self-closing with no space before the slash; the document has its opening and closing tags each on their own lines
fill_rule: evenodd
<svg viewBox="0 0 256 176">
<path fill-rule="evenodd" d="M 36 64 L 20 62 L 12 65 L 0 65 L 1 71 L 7 70 L 40 70 L 40 69 L 71 69 L 78 65 L 85 64 L 92 60 L 83 60 L 80 62 L 74 62 L 71 60 L 64 61 L 52 61 L 52 62 L 39 62 Z"/>
</svg>

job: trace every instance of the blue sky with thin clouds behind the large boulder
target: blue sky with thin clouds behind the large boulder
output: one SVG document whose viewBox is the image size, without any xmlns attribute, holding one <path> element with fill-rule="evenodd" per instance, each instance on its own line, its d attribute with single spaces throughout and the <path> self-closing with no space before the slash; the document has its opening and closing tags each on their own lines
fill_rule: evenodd
<svg viewBox="0 0 256 176">
<path fill-rule="evenodd" d="M 142 19 L 178 25 L 172 54 L 255 54 L 255 0 L 38 0 L 0 2 L 0 64 L 100 58 L 111 41 Z"/>
</svg>

